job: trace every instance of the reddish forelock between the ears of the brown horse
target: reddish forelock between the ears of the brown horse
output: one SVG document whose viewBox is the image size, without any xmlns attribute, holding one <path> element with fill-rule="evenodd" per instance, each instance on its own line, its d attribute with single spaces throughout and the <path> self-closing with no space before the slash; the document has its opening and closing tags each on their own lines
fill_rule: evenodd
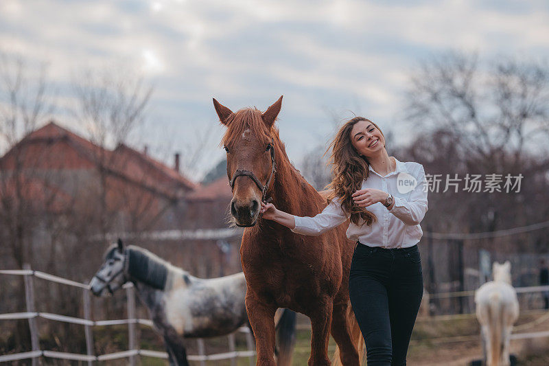
<svg viewBox="0 0 549 366">
<path fill-rule="evenodd" d="M 250 130 L 250 133 L 264 144 L 268 144 L 271 138 L 279 137 L 278 128 L 273 125 L 269 130 L 261 118 L 261 111 L 255 107 L 236 111 L 226 119 L 225 124 L 227 129 L 221 139 L 224 146 L 230 146 L 241 139 L 246 130 Z"/>
</svg>

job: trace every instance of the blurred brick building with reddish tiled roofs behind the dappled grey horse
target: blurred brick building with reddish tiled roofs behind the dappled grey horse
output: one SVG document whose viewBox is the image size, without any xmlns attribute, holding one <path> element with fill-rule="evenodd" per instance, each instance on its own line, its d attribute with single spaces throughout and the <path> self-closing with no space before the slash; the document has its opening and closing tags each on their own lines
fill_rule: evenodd
<svg viewBox="0 0 549 366">
<path fill-rule="evenodd" d="M 230 201 L 226 177 L 194 183 L 180 172 L 179 155 L 168 167 L 124 144 L 102 148 L 55 122 L 0 158 L 5 240 L 17 236 L 19 224 L 11 225 L 10 217 L 18 211 L 34 218 L 24 240 L 35 253 L 54 220 L 70 222 L 65 227 L 74 231 L 74 242 L 104 249 L 120 236 L 202 277 L 234 273 L 240 270 L 240 232 L 227 225 Z"/>
</svg>

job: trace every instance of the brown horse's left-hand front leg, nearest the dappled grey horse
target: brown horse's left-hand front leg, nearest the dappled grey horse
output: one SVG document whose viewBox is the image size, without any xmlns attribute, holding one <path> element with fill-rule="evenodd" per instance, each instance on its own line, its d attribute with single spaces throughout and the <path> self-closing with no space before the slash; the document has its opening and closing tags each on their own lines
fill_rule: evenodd
<svg viewBox="0 0 549 366">
<path fill-rule="evenodd" d="M 255 336 L 257 366 L 276 366 L 274 363 L 274 312 L 277 307 L 260 301 L 248 289 L 246 311 Z"/>
</svg>

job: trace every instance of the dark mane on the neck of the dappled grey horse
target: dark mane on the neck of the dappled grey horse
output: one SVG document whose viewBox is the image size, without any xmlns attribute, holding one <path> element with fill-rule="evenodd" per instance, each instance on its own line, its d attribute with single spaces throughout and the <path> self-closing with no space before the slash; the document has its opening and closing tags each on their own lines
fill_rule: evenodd
<svg viewBox="0 0 549 366">
<path fill-rule="evenodd" d="M 159 290 L 164 290 L 170 264 L 150 251 L 130 245 L 128 255 L 128 274 L 139 281 Z"/>
</svg>

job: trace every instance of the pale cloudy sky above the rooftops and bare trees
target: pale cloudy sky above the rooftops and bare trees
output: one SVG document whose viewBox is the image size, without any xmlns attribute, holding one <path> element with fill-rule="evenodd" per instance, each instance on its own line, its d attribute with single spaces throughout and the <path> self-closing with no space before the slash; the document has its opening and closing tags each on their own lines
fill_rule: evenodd
<svg viewBox="0 0 549 366">
<path fill-rule="evenodd" d="M 0 49 L 49 62 L 59 104 L 83 67 L 124 68 L 154 85 L 139 142 L 159 156 L 210 136 L 203 170 L 223 156 L 211 98 L 264 110 L 284 95 L 281 137 L 299 166 L 351 111 L 397 140 L 421 60 L 549 56 L 549 3 L 533 1 L 1 0 Z M 58 111 L 60 123 L 82 130 Z M 137 146 L 138 148 L 140 146 Z M 199 174 L 198 174 L 199 175 Z"/>
</svg>

